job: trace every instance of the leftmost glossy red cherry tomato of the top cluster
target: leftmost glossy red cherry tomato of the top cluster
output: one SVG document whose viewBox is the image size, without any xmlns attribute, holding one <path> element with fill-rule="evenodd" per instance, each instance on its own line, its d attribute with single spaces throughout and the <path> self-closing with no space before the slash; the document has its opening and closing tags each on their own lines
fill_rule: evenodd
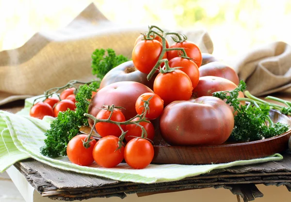
<svg viewBox="0 0 291 202">
<path fill-rule="evenodd" d="M 141 72 L 148 74 L 156 65 L 162 52 L 162 44 L 157 40 L 143 40 L 132 50 L 132 62 Z M 163 58 L 167 58 L 164 54 Z"/>
</svg>

